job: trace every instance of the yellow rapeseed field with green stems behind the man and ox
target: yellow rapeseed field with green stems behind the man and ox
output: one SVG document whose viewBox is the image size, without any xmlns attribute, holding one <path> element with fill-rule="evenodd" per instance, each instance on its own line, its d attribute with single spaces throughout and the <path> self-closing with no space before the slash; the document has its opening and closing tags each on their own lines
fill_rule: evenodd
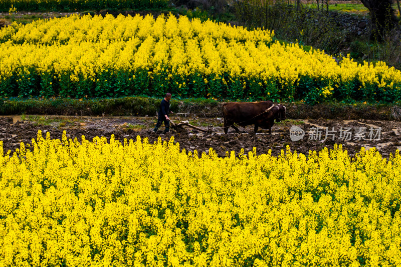
<svg viewBox="0 0 401 267">
<path fill-rule="evenodd" d="M 0 31 L 0 96 L 401 100 L 401 72 L 181 16 L 71 16 Z"/>
</svg>

